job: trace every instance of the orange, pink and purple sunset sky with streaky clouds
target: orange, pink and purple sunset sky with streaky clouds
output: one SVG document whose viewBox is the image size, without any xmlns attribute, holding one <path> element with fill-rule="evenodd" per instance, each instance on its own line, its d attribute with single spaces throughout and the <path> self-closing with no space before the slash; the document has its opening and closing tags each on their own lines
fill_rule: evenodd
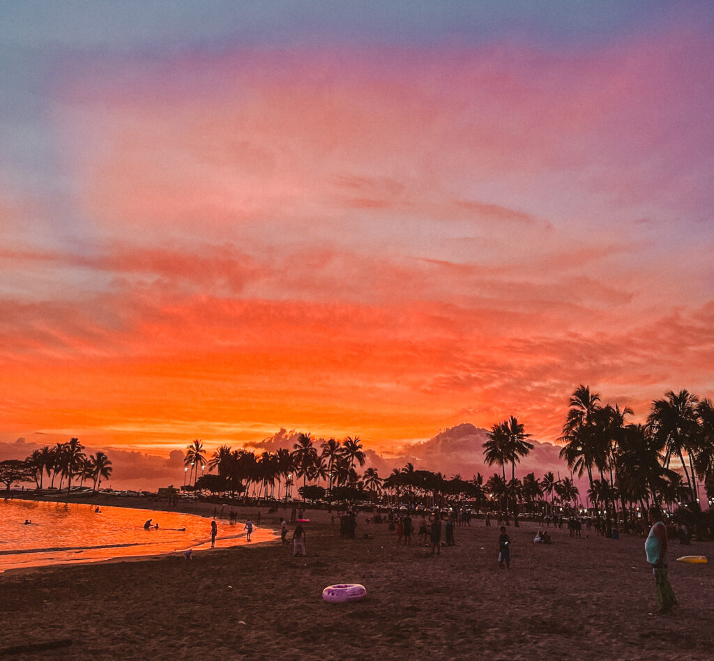
<svg viewBox="0 0 714 661">
<path fill-rule="evenodd" d="M 712 34 L 698 1 L 4 1 L 0 442 L 401 457 L 555 443 L 580 383 L 712 397 Z"/>
</svg>

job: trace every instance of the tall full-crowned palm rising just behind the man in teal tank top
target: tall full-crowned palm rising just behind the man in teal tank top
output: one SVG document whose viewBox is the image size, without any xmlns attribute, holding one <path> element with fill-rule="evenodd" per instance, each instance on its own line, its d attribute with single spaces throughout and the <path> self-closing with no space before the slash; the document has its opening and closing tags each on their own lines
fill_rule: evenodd
<svg viewBox="0 0 714 661">
<path fill-rule="evenodd" d="M 695 503 L 697 487 L 694 462 L 700 435 L 696 405 L 699 398 L 687 390 L 678 393 L 670 390 L 665 393 L 665 398 L 653 401 L 647 422 L 655 439 L 665 450 L 665 468 L 669 468 L 672 455 L 678 456 L 690 487 L 692 502 Z M 687 470 L 685 453 L 688 455 L 690 470 Z"/>
</svg>

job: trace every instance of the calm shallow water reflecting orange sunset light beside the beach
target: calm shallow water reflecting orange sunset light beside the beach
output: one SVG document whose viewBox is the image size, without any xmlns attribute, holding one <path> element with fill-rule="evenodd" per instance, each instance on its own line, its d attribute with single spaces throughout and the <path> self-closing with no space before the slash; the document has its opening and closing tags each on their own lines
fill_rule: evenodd
<svg viewBox="0 0 714 661">
<path fill-rule="evenodd" d="M 0 500 L 0 572 L 211 547 L 211 518 L 111 507 L 95 513 L 95 507 Z M 159 530 L 144 530 L 149 518 L 159 524 Z M 31 523 L 26 525 L 25 520 Z M 216 523 L 216 548 L 247 543 L 244 521 L 230 525 L 219 519 Z M 250 543 L 275 538 L 271 530 L 253 527 Z"/>
</svg>

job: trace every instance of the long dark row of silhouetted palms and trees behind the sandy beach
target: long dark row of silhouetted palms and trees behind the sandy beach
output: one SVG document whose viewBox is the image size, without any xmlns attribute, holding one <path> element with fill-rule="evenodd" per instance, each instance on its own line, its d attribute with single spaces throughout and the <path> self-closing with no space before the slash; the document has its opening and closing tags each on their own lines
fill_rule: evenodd
<svg viewBox="0 0 714 661">
<path fill-rule="evenodd" d="M 470 501 L 477 509 L 488 505 L 518 522 L 519 508 L 553 513 L 559 506 L 566 513 L 586 509 L 603 519 L 610 532 L 613 520 L 628 522 L 637 510 L 650 505 L 699 508 L 698 488 L 705 483 L 714 493 L 714 418 L 709 399 L 699 399 L 687 390 L 669 391 L 653 400 L 644 424 L 630 423 L 633 411 L 618 404 L 603 404 L 600 393 L 579 385 L 570 397 L 565 414 L 560 458 L 570 475 L 556 479 L 552 472 L 538 478 L 528 473 L 516 478 L 516 464 L 533 450 L 523 423 L 511 416 L 488 431 L 483 443 L 487 465 L 500 470 L 486 479 L 481 473 L 464 480 L 447 478 L 431 470 L 416 470 L 408 463 L 386 478 L 376 468 L 358 473 L 366 454 L 358 437 L 344 440 L 313 440 L 301 433 L 293 448 L 256 455 L 222 445 L 210 459 L 201 440 L 186 451 L 189 483 L 214 493 L 231 492 L 254 498 L 288 497 L 288 488 L 302 480 L 298 490 L 304 498 L 341 500 L 361 498 L 372 502 L 401 503 L 404 498 L 428 506 Z M 208 466 L 209 473 L 199 470 Z M 507 470 L 510 469 L 510 475 Z M 587 476 L 585 503 L 575 485 L 575 476 Z"/>
</svg>

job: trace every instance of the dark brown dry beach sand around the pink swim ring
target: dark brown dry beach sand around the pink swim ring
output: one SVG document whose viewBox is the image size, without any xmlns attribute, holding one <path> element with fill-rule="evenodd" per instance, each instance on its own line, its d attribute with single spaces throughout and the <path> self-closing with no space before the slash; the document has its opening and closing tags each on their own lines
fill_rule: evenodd
<svg viewBox="0 0 714 661">
<path fill-rule="evenodd" d="M 241 512 L 255 517 L 256 508 Z M 498 528 L 483 522 L 456 528 L 458 545 L 432 557 L 397 547 L 386 524 L 367 525 L 364 515 L 355 540 L 341 540 L 327 513 L 308 515 L 305 558 L 278 540 L 190 561 L 174 555 L 0 575 L 0 652 L 71 640 L 12 658 L 714 657 L 712 565 L 673 562 L 680 606 L 658 616 L 640 538 L 570 539 L 550 528 L 553 545 L 535 547 L 536 528 L 526 523 L 508 529 L 507 571 L 496 563 Z M 263 510 L 263 525 L 277 521 Z M 714 543 L 674 545 L 671 555 L 695 553 L 714 559 Z M 323 588 L 337 582 L 362 583 L 368 596 L 323 602 Z"/>
</svg>

